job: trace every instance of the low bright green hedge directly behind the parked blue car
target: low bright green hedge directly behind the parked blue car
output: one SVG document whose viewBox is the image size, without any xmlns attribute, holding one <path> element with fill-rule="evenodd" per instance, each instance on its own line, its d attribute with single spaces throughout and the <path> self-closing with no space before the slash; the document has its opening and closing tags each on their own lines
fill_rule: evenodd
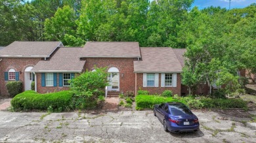
<svg viewBox="0 0 256 143">
<path fill-rule="evenodd" d="M 136 110 L 142 110 L 144 108 L 154 108 L 154 104 L 179 102 L 177 99 L 172 97 L 160 97 L 154 95 L 137 95 L 135 97 Z"/>
</svg>

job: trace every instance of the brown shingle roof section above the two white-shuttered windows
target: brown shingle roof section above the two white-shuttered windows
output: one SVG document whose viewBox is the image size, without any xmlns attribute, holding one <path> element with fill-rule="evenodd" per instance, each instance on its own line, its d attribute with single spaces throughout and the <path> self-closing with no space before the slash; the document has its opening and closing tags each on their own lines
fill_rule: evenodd
<svg viewBox="0 0 256 143">
<path fill-rule="evenodd" d="M 182 72 L 181 63 L 172 48 L 140 48 L 142 61 L 133 61 L 134 72 Z"/>
</svg>

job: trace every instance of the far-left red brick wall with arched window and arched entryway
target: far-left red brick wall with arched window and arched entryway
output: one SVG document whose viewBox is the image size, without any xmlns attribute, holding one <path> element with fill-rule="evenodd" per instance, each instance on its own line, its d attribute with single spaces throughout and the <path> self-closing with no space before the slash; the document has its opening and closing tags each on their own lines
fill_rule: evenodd
<svg viewBox="0 0 256 143">
<path fill-rule="evenodd" d="M 24 91 L 24 71 L 26 67 L 33 67 L 35 64 L 38 63 L 38 61 L 41 60 L 41 58 L 1 58 L 2 61 L 0 61 L 0 95 L 5 96 L 9 95 L 7 92 L 6 84 L 8 81 L 5 81 L 5 72 L 8 72 L 9 69 L 14 69 L 15 71 L 21 71 L 20 73 L 20 81 L 23 84 L 23 91 Z"/>
</svg>

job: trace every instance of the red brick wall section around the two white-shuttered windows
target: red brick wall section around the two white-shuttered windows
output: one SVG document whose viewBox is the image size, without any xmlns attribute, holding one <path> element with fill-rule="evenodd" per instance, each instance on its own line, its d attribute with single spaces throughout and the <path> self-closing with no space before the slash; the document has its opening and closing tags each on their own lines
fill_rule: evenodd
<svg viewBox="0 0 256 143">
<path fill-rule="evenodd" d="M 137 73 L 137 91 L 139 89 L 147 90 L 150 94 L 161 94 L 165 90 L 171 90 L 173 95 L 181 95 L 181 74 L 177 74 L 177 87 L 161 87 L 161 74 L 159 74 L 158 87 L 143 87 L 143 73 Z"/>
</svg>

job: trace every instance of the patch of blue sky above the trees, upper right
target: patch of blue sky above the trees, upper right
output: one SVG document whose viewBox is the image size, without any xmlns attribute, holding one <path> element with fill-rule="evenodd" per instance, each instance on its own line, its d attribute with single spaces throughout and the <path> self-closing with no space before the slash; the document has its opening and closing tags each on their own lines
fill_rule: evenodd
<svg viewBox="0 0 256 143">
<path fill-rule="evenodd" d="M 256 0 L 231 0 L 230 8 L 244 8 L 251 3 L 256 3 Z M 206 7 L 221 7 L 221 8 L 227 8 L 229 7 L 229 0 L 194 0 L 194 3 L 192 7 L 197 6 L 200 9 L 206 8 Z"/>
</svg>

